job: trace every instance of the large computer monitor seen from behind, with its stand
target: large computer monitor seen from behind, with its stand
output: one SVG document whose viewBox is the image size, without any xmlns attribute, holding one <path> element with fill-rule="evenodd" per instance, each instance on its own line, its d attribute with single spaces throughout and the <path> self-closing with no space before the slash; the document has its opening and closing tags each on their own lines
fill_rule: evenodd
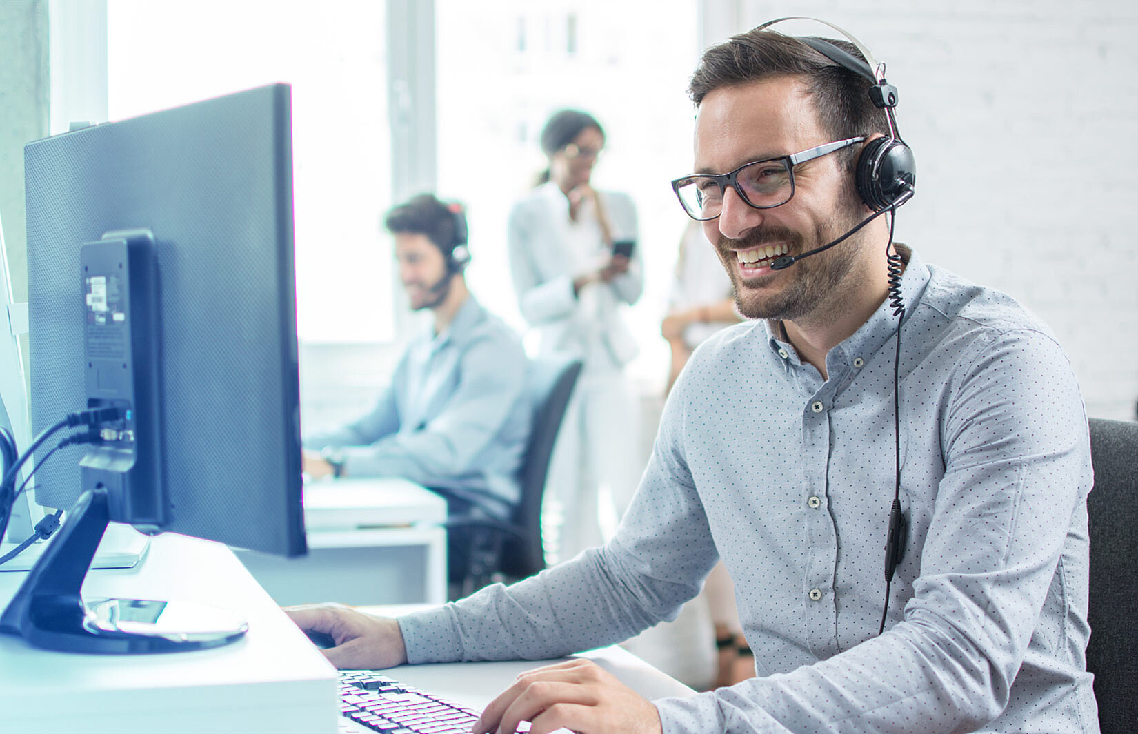
<svg viewBox="0 0 1138 734">
<path fill-rule="evenodd" d="M 32 432 L 115 415 L 36 452 L 35 501 L 71 510 L 0 629 L 88 652 L 231 642 L 242 625 L 205 609 L 79 592 L 107 521 L 306 551 L 290 89 L 39 140 L 24 166 Z"/>
</svg>

